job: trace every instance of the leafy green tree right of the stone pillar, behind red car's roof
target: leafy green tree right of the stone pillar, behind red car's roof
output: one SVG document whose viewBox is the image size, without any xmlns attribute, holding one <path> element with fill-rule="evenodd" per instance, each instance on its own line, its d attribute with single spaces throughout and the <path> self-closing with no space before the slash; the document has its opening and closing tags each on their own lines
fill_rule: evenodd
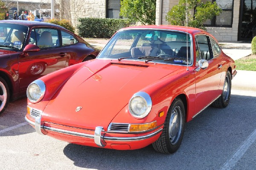
<svg viewBox="0 0 256 170">
<path fill-rule="evenodd" d="M 167 13 L 166 20 L 177 26 L 186 26 L 187 21 L 187 26 L 206 29 L 204 22 L 219 15 L 221 11 L 216 2 L 202 3 L 201 0 L 179 0 L 178 5 L 173 6 Z"/>
</svg>

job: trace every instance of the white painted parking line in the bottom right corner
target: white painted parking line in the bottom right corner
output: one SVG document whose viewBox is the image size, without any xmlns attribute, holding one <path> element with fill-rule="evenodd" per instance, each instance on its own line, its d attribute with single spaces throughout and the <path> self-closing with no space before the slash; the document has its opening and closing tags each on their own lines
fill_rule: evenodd
<svg viewBox="0 0 256 170">
<path fill-rule="evenodd" d="M 234 155 L 230 158 L 230 160 L 225 162 L 221 170 L 231 170 L 255 140 L 256 140 L 256 129 L 244 141 L 244 143 L 239 147 L 239 149 L 236 150 L 236 153 L 234 153 Z"/>
</svg>

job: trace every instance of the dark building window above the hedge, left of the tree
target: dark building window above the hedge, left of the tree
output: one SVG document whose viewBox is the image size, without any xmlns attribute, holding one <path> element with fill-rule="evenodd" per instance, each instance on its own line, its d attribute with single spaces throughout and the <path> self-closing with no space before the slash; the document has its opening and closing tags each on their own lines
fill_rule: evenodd
<svg viewBox="0 0 256 170">
<path fill-rule="evenodd" d="M 120 18 L 120 0 L 107 0 L 107 18 Z"/>
</svg>

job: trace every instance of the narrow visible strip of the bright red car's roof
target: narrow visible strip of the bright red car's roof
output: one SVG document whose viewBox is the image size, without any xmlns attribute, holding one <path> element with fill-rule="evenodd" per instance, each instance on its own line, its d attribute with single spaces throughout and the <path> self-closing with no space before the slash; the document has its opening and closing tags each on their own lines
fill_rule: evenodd
<svg viewBox="0 0 256 170">
<path fill-rule="evenodd" d="M 208 33 L 203 29 L 193 28 L 193 27 L 189 27 L 189 26 L 186 27 L 186 26 L 173 26 L 173 25 L 130 26 L 130 27 L 123 28 L 121 30 L 126 30 L 126 29 L 167 29 L 167 30 L 188 32 L 189 34 L 192 34 L 192 35 L 194 35 L 196 33 Z"/>
</svg>

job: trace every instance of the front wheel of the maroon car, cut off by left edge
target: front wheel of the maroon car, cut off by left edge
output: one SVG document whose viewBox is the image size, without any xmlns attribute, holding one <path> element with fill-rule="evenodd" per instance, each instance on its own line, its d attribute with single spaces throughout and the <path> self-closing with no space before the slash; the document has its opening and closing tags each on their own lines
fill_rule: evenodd
<svg viewBox="0 0 256 170">
<path fill-rule="evenodd" d="M 9 87 L 6 81 L 0 77 L 0 115 L 6 109 L 10 98 Z"/>
</svg>

